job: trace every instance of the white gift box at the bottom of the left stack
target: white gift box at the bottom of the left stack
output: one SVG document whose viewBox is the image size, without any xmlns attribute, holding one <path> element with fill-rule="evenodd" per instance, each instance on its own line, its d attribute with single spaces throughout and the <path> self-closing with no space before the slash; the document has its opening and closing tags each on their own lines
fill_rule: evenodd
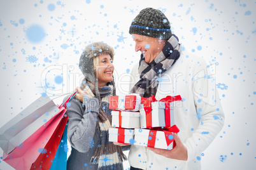
<svg viewBox="0 0 256 170">
<path fill-rule="evenodd" d="M 119 128 L 110 128 L 108 129 L 109 141 L 118 142 L 118 138 L 121 137 L 121 134 L 118 133 Z M 119 136 L 119 137 L 118 137 Z M 121 143 L 119 141 L 119 143 Z M 124 143 L 134 144 L 134 129 L 124 129 Z"/>
</svg>

